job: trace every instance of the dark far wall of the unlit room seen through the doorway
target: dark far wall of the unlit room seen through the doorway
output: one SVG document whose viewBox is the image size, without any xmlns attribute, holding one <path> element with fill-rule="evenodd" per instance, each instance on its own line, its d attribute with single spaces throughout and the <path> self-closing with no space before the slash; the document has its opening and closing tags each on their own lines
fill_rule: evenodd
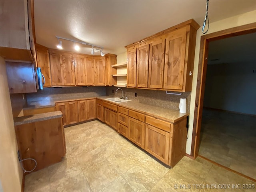
<svg viewBox="0 0 256 192">
<path fill-rule="evenodd" d="M 256 115 L 255 62 L 207 66 L 204 106 Z"/>
</svg>

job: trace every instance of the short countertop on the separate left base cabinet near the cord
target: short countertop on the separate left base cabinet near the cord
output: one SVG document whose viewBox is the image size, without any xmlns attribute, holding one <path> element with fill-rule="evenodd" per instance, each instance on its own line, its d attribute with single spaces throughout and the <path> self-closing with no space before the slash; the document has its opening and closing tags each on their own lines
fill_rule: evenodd
<svg viewBox="0 0 256 192">
<path fill-rule="evenodd" d="M 60 118 L 60 117 L 62 117 L 62 112 L 60 111 L 16 117 L 14 118 L 14 126 L 32 123 L 32 122 L 44 121 L 48 119 Z"/>
</svg>

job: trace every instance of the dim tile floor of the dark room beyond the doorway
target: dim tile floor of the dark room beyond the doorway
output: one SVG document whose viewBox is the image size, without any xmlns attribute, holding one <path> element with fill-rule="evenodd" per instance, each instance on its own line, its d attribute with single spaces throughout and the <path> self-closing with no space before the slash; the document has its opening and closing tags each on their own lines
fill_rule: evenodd
<svg viewBox="0 0 256 192">
<path fill-rule="evenodd" d="M 256 179 L 256 116 L 204 108 L 199 154 Z"/>
</svg>

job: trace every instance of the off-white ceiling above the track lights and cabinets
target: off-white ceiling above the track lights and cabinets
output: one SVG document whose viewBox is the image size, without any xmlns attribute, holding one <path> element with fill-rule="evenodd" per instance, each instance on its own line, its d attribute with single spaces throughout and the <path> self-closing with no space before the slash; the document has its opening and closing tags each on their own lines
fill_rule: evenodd
<svg viewBox="0 0 256 192">
<path fill-rule="evenodd" d="M 215 22 L 256 10 L 255 0 L 210 0 L 209 20 Z M 169 1 L 61 1 L 35 0 L 36 42 L 49 48 L 58 44 L 55 36 L 84 41 L 120 54 L 124 46 L 189 19 L 202 26 L 206 0 Z M 73 42 L 62 41 L 66 51 Z M 90 54 L 85 46 L 80 53 Z"/>
</svg>

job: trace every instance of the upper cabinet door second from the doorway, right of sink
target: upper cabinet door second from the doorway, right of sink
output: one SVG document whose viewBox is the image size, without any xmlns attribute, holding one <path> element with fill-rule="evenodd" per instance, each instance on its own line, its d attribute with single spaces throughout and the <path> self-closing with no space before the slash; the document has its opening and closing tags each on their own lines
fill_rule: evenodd
<svg viewBox="0 0 256 192">
<path fill-rule="evenodd" d="M 158 38 L 149 46 L 148 87 L 163 88 L 165 39 Z"/>
</svg>

